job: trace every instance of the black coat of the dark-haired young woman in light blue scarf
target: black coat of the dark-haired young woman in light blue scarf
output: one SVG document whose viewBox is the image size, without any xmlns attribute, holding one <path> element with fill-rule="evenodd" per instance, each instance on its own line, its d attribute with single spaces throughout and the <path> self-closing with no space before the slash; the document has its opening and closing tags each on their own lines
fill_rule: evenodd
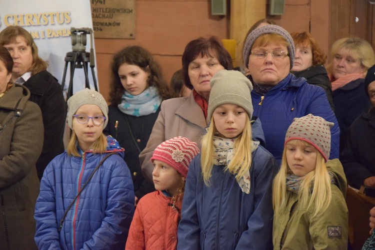
<svg viewBox="0 0 375 250">
<path fill-rule="evenodd" d="M 113 138 L 115 138 L 120 146 L 125 149 L 123 159 L 129 167 L 134 185 L 134 193 L 138 199 L 143 197 L 145 194 L 154 191 L 153 184 L 146 181 L 142 175 L 138 156 L 139 153 L 146 147 L 153 124 L 155 123 L 159 112 L 160 107 L 153 114 L 145 116 L 132 116 L 122 113 L 117 108 L 117 105 L 109 106 L 108 124 L 103 132 L 104 134 L 111 135 Z M 134 139 L 131 137 L 126 119 L 129 122 Z M 115 128 L 116 121 L 117 128 Z M 139 150 L 135 143 L 139 147 Z"/>
</svg>

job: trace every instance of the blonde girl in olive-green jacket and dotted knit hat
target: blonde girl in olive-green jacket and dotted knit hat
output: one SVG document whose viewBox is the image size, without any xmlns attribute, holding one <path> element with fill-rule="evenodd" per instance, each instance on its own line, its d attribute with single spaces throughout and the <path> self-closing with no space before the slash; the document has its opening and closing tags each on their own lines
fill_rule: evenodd
<svg viewBox="0 0 375 250">
<path fill-rule="evenodd" d="M 272 188 L 275 250 L 347 249 L 346 178 L 338 159 L 328 161 L 332 126 L 308 114 L 286 131 Z"/>
</svg>

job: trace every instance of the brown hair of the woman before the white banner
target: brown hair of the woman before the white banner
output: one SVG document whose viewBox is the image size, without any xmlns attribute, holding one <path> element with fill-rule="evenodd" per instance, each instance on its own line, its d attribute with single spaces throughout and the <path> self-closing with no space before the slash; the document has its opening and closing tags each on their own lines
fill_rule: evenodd
<svg viewBox="0 0 375 250">
<path fill-rule="evenodd" d="M 32 64 L 27 71 L 31 71 L 31 75 L 46 70 L 48 64 L 38 56 L 38 48 L 30 33 L 21 26 L 7 26 L 0 32 L 0 45 L 4 46 L 16 41 L 20 36 L 24 39 L 27 46 L 31 47 Z"/>
</svg>

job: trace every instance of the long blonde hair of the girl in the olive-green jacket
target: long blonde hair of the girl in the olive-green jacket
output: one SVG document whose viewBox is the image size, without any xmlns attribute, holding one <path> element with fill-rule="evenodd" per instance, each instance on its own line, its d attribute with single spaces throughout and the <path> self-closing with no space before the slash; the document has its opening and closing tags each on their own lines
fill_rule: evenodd
<svg viewBox="0 0 375 250">
<path fill-rule="evenodd" d="M 311 144 L 302 140 L 291 140 L 286 145 L 311 146 Z M 285 146 L 286 146 L 285 145 Z M 272 205 L 275 215 L 286 209 L 286 175 L 291 170 L 286 161 L 286 147 L 282 153 L 281 167 L 273 180 Z M 312 191 L 311 191 L 312 187 Z M 307 210 L 315 204 L 312 217 L 321 215 L 329 206 L 332 198 L 330 188 L 330 177 L 325 166 L 323 156 L 317 151 L 316 167 L 313 171 L 306 174 L 303 178 L 298 193 L 298 203 L 300 210 Z"/>
</svg>

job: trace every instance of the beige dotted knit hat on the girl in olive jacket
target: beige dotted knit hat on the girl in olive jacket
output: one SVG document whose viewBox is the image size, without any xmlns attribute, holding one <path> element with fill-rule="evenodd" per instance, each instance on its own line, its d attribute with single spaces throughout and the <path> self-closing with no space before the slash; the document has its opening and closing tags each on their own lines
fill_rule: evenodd
<svg viewBox="0 0 375 250">
<path fill-rule="evenodd" d="M 330 128 L 333 122 L 327 122 L 320 116 L 308 114 L 294 118 L 285 135 L 285 143 L 291 140 L 302 140 L 314 146 L 328 161 L 330 152 Z"/>
</svg>

